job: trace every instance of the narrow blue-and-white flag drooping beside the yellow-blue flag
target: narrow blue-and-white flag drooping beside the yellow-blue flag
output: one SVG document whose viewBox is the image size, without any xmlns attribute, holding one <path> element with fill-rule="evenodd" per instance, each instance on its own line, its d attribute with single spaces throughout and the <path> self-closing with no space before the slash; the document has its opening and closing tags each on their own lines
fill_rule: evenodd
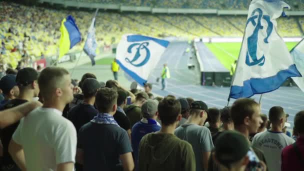
<svg viewBox="0 0 304 171">
<path fill-rule="evenodd" d="M 97 10 L 96 10 L 97 13 Z M 92 19 L 92 23 L 88 29 L 86 41 L 83 47 L 84 52 L 89 56 L 91 59 L 92 65 L 95 65 L 95 59 L 96 56 L 96 38 L 95 38 L 95 17 Z"/>
</svg>

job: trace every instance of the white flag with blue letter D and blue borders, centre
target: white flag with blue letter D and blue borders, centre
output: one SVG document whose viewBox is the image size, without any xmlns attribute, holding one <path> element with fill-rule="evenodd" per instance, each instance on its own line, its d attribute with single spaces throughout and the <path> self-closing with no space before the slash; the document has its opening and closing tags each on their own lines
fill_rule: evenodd
<svg viewBox="0 0 304 171">
<path fill-rule="evenodd" d="M 138 84 L 144 85 L 169 41 L 153 37 L 123 35 L 116 49 L 116 62 Z"/>
</svg>

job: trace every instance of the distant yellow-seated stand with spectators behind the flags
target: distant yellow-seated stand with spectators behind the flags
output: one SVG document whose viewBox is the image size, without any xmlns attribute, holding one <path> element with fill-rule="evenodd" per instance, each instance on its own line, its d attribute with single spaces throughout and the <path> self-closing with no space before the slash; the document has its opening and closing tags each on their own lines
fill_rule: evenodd
<svg viewBox="0 0 304 171">
<path fill-rule="evenodd" d="M 0 63 L 9 64 L 12 67 L 16 67 L 18 64 L 28 66 L 37 57 L 57 55 L 59 27 L 61 20 L 68 14 L 75 18 L 82 36 L 81 43 L 70 50 L 72 53 L 82 49 L 93 12 L 30 7 L 1 1 Z M 100 11 L 96 17 L 96 39 L 98 46 L 101 47 L 118 43 L 121 36 L 126 33 L 155 37 L 175 36 L 187 39 L 205 36 L 241 37 L 245 20 L 246 16 Z M 278 32 L 281 36 L 302 35 L 301 28 L 297 24 L 298 22 L 301 27 L 304 26 L 302 18 L 280 18 L 277 22 Z M 22 61 L 20 61 L 21 59 Z"/>
</svg>

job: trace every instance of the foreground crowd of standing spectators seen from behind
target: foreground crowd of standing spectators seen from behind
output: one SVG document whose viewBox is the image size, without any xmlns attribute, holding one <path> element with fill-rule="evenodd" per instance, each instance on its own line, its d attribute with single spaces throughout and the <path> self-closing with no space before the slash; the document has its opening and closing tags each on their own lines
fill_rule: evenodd
<svg viewBox="0 0 304 171">
<path fill-rule="evenodd" d="M 261 114 L 240 98 L 203 99 L 127 90 L 60 67 L 9 68 L 0 79 L 0 170 L 302 170 L 304 111 L 292 134 L 280 106 Z M 23 117 L 24 116 L 24 117 Z"/>
</svg>

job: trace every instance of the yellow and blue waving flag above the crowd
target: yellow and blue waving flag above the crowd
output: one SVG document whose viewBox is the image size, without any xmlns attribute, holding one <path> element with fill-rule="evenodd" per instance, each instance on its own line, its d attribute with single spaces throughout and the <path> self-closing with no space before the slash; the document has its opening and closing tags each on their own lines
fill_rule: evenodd
<svg viewBox="0 0 304 171">
<path fill-rule="evenodd" d="M 60 26 L 60 40 L 59 40 L 59 58 L 68 52 L 74 45 L 81 40 L 79 29 L 75 23 L 74 18 L 68 15 L 61 22 Z"/>
</svg>

